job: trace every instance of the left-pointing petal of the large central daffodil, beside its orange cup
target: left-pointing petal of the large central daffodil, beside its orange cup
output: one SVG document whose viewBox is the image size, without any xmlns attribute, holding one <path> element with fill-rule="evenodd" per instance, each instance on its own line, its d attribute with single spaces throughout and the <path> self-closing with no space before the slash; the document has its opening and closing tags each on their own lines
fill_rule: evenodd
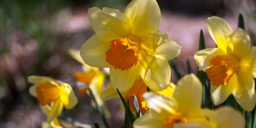
<svg viewBox="0 0 256 128">
<path fill-rule="evenodd" d="M 92 67 L 109 67 L 106 62 L 106 52 L 109 48 L 110 44 L 101 41 L 95 34 L 82 45 L 80 55 L 84 62 Z"/>
</svg>

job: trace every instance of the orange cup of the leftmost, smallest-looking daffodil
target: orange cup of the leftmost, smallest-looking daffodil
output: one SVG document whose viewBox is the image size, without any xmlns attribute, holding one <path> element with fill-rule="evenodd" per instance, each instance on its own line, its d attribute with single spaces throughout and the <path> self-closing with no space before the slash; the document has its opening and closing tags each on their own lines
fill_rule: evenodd
<svg viewBox="0 0 256 128">
<path fill-rule="evenodd" d="M 60 97 L 59 89 L 53 84 L 39 85 L 36 87 L 36 94 L 42 106 L 50 104 Z"/>
</svg>

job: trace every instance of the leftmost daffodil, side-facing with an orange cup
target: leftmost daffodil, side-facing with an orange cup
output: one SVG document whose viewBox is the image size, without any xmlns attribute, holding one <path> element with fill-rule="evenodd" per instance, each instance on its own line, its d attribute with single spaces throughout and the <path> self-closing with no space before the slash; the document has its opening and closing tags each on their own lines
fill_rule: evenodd
<svg viewBox="0 0 256 128">
<path fill-rule="evenodd" d="M 28 76 L 28 82 L 33 84 L 29 93 L 39 100 L 48 123 L 60 115 L 63 105 L 71 109 L 77 104 L 75 93 L 67 83 L 45 76 Z"/>
</svg>

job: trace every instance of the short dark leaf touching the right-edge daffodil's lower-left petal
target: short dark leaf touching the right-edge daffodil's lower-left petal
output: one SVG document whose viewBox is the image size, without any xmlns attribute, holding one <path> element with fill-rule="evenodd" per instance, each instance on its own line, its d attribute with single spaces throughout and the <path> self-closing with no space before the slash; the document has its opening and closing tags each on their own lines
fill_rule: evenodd
<svg viewBox="0 0 256 128">
<path fill-rule="evenodd" d="M 206 81 L 203 84 L 203 103 L 202 108 L 213 109 L 212 97 L 209 88 L 207 87 Z"/>
</svg>

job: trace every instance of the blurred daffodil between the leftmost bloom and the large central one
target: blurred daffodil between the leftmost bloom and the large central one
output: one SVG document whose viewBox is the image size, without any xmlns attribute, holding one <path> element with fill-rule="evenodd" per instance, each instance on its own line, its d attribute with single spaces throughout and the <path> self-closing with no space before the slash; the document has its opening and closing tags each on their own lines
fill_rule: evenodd
<svg viewBox="0 0 256 128">
<path fill-rule="evenodd" d="M 105 81 L 105 75 L 103 72 L 101 72 L 100 68 L 94 68 L 86 65 L 83 59 L 80 57 L 79 50 L 70 49 L 68 52 L 74 59 L 83 65 L 82 68 L 84 72 L 74 73 L 79 94 L 84 95 L 89 93 L 87 89 L 90 87 L 97 103 L 100 107 L 103 108 L 105 116 L 110 117 L 110 112 L 107 106 L 104 105 L 103 100 L 100 98 L 100 94 L 102 93 L 103 84 Z M 95 105 L 93 104 L 93 106 Z"/>
</svg>

